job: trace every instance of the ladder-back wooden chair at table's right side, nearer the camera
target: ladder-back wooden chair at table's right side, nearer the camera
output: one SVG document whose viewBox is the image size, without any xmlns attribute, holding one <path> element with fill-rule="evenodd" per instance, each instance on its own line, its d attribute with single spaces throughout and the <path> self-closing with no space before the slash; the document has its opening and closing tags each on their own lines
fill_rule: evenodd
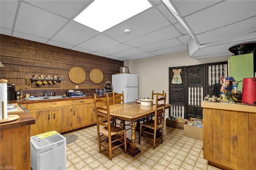
<svg viewBox="0 0 256 170">
<path fill-rule="evenodd" d="M 157 103 L 159 101 L 163 101 L 162 104 L 158 105 Z M 166 93 L 164 93 L 163 97 L 160 97 L 159 99 L 158 94 L 156 94 L 156 109 L 154 112 L 154 118 L 144 123 L 140 123 L 139 144 L 142 135 L 145 138 L 153 140 L 153 149 L 155 148 L 156 140 L 161 139 L 161 143 L 163 142 L 165 101 Z"/>
</svg>

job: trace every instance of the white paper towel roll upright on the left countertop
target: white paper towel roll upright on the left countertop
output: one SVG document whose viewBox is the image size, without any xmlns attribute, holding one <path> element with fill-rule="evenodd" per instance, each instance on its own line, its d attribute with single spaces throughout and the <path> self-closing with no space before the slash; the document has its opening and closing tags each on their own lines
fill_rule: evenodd
<svg viewBox="0 0 256 170">
<path fill-rule="evenodd" d="M 2 105 L 2 101 L 4 101 L 4 105 Z M 7 119 L 7 83 L 0 83 L 0 105 L 0 119 Z"/>
</svg>

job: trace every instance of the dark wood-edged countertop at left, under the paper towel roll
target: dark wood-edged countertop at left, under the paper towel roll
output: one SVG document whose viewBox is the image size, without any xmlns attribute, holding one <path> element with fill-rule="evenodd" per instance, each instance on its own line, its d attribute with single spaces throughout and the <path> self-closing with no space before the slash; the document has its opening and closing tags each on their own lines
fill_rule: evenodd
<svg viewBox="0 0 256 170">
<path fill-rule="evenodd" d="M 10 121 L 6 123 L 0 124 L 0 130 L 10 129 L 10 128 L 18 128 L 28 125 L 33 125 L 36 123 L 36 120 L 26 111 L 23 112 L 14 112 L 12 115 L 19 115 L 20 118 L 15 121 Z M 10 115 L 10 114 L 8 114 Z"/>
</svg>

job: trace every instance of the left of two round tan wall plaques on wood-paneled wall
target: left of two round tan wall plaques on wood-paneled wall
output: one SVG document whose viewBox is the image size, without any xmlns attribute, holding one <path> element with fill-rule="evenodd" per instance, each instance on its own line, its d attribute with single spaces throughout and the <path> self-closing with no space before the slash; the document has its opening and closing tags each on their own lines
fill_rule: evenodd
<svg viewBox="0 0 256 170">
<path fill-rule="evenodd" d="M 82 67 L 74 66 L 69 70 L 68 77 L 72 83 L 81 84 L 85 80 L 86 73 Z"/>
</svg>

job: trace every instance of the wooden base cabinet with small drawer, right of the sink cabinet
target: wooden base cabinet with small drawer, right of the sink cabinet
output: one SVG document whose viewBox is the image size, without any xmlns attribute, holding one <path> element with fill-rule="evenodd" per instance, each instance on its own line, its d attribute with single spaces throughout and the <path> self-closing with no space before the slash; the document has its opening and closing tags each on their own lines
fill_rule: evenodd
<svg viewBox="0 0 256 170">
<path fill-rule="evenodd" d="M 92 99 L 72 101 L 72 128 L 92 124 Z"/>
</svg>

